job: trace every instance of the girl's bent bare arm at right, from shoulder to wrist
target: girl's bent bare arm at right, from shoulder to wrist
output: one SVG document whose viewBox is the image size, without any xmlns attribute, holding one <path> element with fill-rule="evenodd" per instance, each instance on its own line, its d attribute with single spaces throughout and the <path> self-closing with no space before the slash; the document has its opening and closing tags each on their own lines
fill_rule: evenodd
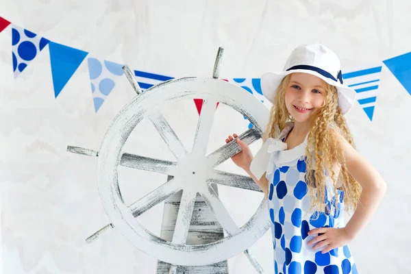
<svg viewBox="0 0 411 274">
<path fill-rule="evenodd" d="M 335 129 L 332 130 L 332 137 L 336 140 L 336 145 L 343 151 L 343 157 L 337 159 L 345 164 L 349 174 L 362 186 L 362 192 L 358 201 L 356 211 L 345 226 L 349 238 L 355 238 L 369 222 L 371 216 L 377 210 L 379 202 L 386 193 L 386 183 L 381 175 L 356 149 L 354 149 L 343 136 Z M 335 149 L 334 142 L 330 142 L 332 150 Z M 334 153 L 336 155 L 336 153 Z"/>
</svg>

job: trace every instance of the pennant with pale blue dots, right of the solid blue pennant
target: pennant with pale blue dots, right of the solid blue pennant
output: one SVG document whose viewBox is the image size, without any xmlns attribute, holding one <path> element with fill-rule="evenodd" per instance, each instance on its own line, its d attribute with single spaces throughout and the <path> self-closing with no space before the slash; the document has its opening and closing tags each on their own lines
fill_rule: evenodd
<svg viewBox="0 0 411 274">
<path fill-rule="evenodd" d="M 97 58 L 87 58 L 88 73 L 90 75 L 92 99 L 95 105 L 95 112 L 104 103 L 105 98 L 112 92 L 116 81 L 123 75 L 123 65 L 99 60 Z"/>
</svg>

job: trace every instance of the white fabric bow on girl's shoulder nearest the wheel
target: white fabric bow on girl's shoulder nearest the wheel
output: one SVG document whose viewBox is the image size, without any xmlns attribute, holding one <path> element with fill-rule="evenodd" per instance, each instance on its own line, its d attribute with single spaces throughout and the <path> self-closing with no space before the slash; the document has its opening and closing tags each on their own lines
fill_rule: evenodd
<svg viewBox="0 0 411 274">
<path fill-rule="evenodd" d="M 287 149 L 287 144 L 282 142 L 282 140 L 279 140 L 279 138 L 268 138 L 251 161 L 251 173 L 253 173 L 253 175 L 260 180 L 264 172 L 271 172 L 271 168 L 269 166 L 270 153 L 275 151 L 283 151 L 285 149 Z"/>
</svg>

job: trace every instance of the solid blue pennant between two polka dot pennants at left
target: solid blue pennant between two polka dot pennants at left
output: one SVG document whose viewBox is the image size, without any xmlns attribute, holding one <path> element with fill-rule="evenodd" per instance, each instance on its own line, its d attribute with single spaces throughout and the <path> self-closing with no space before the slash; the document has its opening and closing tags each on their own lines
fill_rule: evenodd
<svg viewBox="0 0 411 274">
<path fill-rule="evenodd" d="M 64 86 L 77 71 L 88 52 L 67 47 L 56 42 L 49 42 L 51 75 L 53 77 L 54 95 L 58 97 Z"/>
</svg>

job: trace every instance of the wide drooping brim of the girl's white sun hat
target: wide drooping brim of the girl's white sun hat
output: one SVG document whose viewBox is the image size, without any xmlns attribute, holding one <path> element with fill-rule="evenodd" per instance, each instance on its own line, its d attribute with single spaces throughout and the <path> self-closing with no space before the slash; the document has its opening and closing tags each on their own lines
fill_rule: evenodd
<svg viewBox="0 0 411 274">
<path fill-rule="evenodd" d="M 356 101 L 356 97 L 357 97 L 356 90 L 349 88 L 345 84 L 341 84 L 340 82 L 336 82 L 332 79 L 324 77 L 323 75 L 321 75 L 320 73 L 317 73 L 316 71 L 310 71 L 306 69 L 296 69 L 292 71 L 279 71 L 279 72 L 269 71 L 268 73 L 264 73 L 264 75 L 262 75 L 261 80 L 260 80 L 262 95 L 264 95 L 266 99 L 268 99 L 271 103 L 273 103 L 275 92 L 279 84 L 282 82 L 282 79 L 286 77 L 286 75 L 289 75 L 291 73 L 308 73 L 308 74 L 311 74 L 311 75 L 314 75 L 316 77 L 323 79 L 327 84 L 335 86 L 338 90 L 338 105 L 340 106 L 342 114 L 346 114 L 353 106 L 353 103 Z"/>
</svg>

